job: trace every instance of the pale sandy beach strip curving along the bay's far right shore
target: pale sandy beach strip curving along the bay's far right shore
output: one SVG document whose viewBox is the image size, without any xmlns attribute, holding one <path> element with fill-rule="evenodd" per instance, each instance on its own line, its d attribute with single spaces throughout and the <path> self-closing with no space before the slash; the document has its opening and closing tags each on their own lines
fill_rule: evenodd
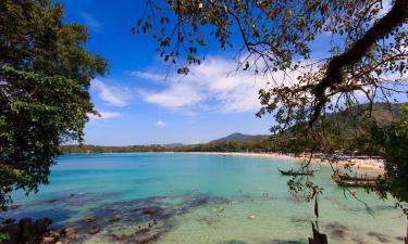
<svg viewBox="0 0 408 244">
<path fill-rule="evenodd" d="M 239 153 L 239 152 L 185 152 L 187 154 L 209 154 L 209 155 L 223 155 L 223 156 L 251 156 L 251 157 L 264 157 L 264 158 L 282 158 L 288 160 L 296 160 L 298 163 L 309 160 L 309 156 L 295 157 L 288 154 L 279 153 Z M 312 158 L 312 164 L 330 166 L 329 160 L 321 160 L 319 158 Z M 384 171 L 384 165 L 378 159 L 351 159 L 351 160 L 336 160 L 332 163 L 333 167 L 343 168 L 347 164 L 353 164 L 353 169 L 358 171 L 379 172 Z"/>
</svg>

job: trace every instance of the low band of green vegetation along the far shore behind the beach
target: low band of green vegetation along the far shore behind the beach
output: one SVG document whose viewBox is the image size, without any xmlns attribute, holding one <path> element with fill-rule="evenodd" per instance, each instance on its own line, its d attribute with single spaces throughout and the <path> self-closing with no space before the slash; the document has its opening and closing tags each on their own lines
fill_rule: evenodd
<svg viewBox="0 0 408 244">
<path fill-rule="evenodd" d="M 359 114 L 366 112 L 367 104 L 353 107 L 351 111 L 344 111 L 330 115 L 333 124 L 342 128 L 341 137 L 337 134 L 331 136 L 335 140 L 335 149 L 343 152 L 353 152 L 356 154 L 380 155 L 382 152 L 378 147 L 368 146 L 366 144 L 369 133 L 363 133 L 366 130 L 356 128 L 367 127 L 366 121 L 360 120 L 359 126 L 349 125 L 348 114 Z M 379 103 L 373 105 L 373 115 L 375 125 L 390 126 L 394 120 L 394 116 L 399 114 L 399 104 L 392 104 L 392 111 L 387 108 L 387 104 Z M 299 126 L 300 127 L 300 126 Z M 268 137 L 268 136 L 248 136 L 240 133 L 233 133 L 225 138 L 213 140 L 209 143 L 191 144 L 191 145 L 131 145 L 131 146 L 101 146 L 101 145 L 62 145 L 61 152 L 70 153 L 128 153 L 128 152 L 280 152 L 280 153 L 304 153 L 309 152 L 311 144 L 299 143 L 298 138 L 292 138 L 286 133 L 295 133 L 294 131 L 302 130 L 297 127 L 287 129 L 285 132 Z M 329 136 L 327 136 L 329 137 Z M 333 139 L 333 140 L 334 140 Z M 307 145 L 307 146 L 306 146 Z M 324 150 L 323 144 L 316 146 L 316 151 Z M 357 152 L 356 152 L 357 151 Z"/>
</svg>

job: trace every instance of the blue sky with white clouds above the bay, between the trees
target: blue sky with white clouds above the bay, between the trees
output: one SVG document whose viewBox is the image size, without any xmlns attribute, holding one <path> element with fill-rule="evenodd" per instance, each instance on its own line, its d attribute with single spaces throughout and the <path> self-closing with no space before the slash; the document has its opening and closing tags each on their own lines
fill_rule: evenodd
<svg viewBox="0 0 408 244">
<path fill-rule="evenodd" d="M 153 39 L 131 31 L 141 14 L 141 0 L 62 3 L 65 23 L 88 27 L 86 50 L 109 62 L 109 73 L 91 80 L 91 101 L 101 117 L 90 116 L 85 143 L 201 143 L 233 132 L 269 133 L 272 118 L 255 116 L 265 80 L 231 74 L 236 51 L 220 51 L 210 42 L 206 61 L 188 76 L 168 74 Z M 323 52 L 320 47 L 313 52 Z"/>
</svg>

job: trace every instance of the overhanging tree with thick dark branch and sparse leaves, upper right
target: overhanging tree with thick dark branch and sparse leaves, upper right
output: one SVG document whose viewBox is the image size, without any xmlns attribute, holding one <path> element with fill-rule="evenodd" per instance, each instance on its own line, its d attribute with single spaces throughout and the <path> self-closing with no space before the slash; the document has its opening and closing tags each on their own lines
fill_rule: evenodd
<svg viewBox="0 0 408 244">
<path fill-rule="evenodd" d="M 237 69 L 270 79 L 259 91 L 257 115 L 273 114 L 272 132 L 295 127 L 290 139 L 309 143 L 300 149 L 318 144 L 331 153 L 338 128 L 326 121 L 330 113 L 363 101 L 368 113 L 359 114 L 371 115 L 375 102 L 406 93 L 407 20 L 408 0 L 147 0 L 132 30 L 151 35 L 163 60 L 183 75 L 202 62 L 209 39 L 235 48 Z M 327 56 L 317 59 L 311 46 L 324 35 L 332 40 Z"/>
</svg>

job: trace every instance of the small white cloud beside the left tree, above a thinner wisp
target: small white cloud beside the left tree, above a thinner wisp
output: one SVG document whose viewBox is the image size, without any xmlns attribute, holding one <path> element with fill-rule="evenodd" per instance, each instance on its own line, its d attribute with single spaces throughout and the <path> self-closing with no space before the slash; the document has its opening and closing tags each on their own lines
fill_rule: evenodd
<svg viewBox="0 0 408 244">
<path fill-rule="evenodd" d="M 128 100 L 128 90 L 125 88 L 108 86 L 99 79 L 91 80 L 91 89 L 99 98 L 112 106 L 125 106 Z"/>
</svg>

